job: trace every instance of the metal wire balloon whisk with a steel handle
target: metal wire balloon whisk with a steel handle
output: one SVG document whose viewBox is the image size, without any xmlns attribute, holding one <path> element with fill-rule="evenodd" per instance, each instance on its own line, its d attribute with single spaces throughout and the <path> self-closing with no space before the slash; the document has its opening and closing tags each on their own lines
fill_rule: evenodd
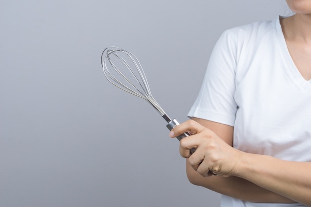
<svg viewBox="0 0 311 207">
<path fill-rule="evenodd" d="M 101 64 L 109 82 L 132 95 L 148 101 L 168 123 L 166 127 L 169 130 L 179 125 L 176 119 L 170 119 L 167 116 L 152 96 L 145 72 L 134 54 L 118 47 L 108 47 L 101 54 Z M 188 136 L 190 134 L 187 132 L 176 138 L 181 140 Z M 193 153 L 195 148 L 190 151 Z"/>
</svg>

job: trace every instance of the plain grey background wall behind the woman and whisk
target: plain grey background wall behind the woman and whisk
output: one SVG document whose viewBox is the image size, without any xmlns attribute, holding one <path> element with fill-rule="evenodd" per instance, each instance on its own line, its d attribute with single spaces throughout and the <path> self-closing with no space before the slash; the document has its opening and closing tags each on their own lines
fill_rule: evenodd
<svg viewBox="0 0 311 207">
<path fill-rule="evenodd" d="M 180 122 L 228 28 L 286 15 L 285 0 L 0 0 L 0 207 L 217 207 L 191 185 L 178 141 L 100 55 L 140 60 Z"/>
</svg>

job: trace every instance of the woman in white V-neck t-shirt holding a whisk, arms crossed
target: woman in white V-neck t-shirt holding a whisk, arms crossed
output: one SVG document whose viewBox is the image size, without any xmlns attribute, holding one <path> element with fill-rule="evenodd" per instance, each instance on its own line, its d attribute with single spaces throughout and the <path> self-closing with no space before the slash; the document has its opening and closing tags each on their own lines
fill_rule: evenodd
<svg viewBox="0 0 311 207">
<path fill-rule="evenodd" d="M 170 132 L 193 134 L 180 141 L 187 176 L 222 207 L 311 206 L 311 0 L 287 4 L 295 15 L 224 32 L 194 121 Z"/>
</svg>

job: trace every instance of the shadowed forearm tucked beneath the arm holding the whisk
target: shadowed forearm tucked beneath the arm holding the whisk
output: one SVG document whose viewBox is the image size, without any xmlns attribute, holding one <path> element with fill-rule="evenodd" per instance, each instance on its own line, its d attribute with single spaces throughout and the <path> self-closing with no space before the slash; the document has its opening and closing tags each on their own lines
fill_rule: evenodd
<svg viewBox="0 0 311 207">
<path fill-rule="evenodd" d="M 211 176 L 206 178 L 194 171 L 188 163 L 186 167 L 188 179 L 192 184 L 208 188 L 226 196 L 255 203 L 295 203 L 291 199 L 239 177 L 230 176 L 224 178 L 221 176 Z"/>
</svg>

